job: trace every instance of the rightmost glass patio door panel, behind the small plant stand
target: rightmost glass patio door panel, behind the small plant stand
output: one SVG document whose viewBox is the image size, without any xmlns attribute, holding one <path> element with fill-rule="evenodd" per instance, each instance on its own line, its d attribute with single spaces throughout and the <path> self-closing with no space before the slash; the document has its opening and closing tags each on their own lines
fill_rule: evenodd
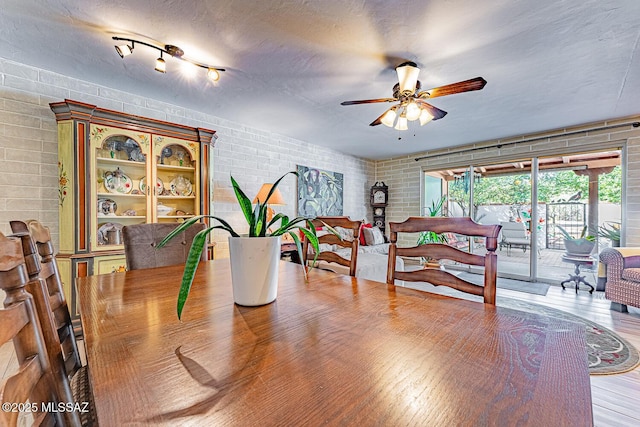
<svg viewBox="0 0 640 427">
<path fill-rule="evenodd" d="M 593 265 L 581 274 L 595 285 L 598 252 L 618 244 L 607 231 L 619 230 L 622 222 L 621 152 L 579 153 L 540 158 L 538 211 L 543 218 L 538 240 L 538 280 L 559 283 L 572 275 L 575 265 L 564 261 L 565 233 L 572 238 L 592 236 L 597 244 L 591 252 Z"/>
</svg>

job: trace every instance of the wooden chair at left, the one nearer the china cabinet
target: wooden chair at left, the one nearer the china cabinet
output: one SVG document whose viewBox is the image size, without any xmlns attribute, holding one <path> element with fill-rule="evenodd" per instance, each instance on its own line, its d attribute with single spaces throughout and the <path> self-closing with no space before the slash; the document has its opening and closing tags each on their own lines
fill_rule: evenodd
<svg viewBox="0 0 640 427">
<path fill-rule="evenodd" d="M 93 425 L 97 418 L 89 372 L 82 366 L 51 233 L 37 220 L 10 221 L 10 225 L 13 236 L 22 242 L 29 275 L 26 289 L 33 296 L 58 394 L 66 402 L 89 402 L 88 411 L 64 412 L 66 421 L 69 425 Z"/>
</svg>

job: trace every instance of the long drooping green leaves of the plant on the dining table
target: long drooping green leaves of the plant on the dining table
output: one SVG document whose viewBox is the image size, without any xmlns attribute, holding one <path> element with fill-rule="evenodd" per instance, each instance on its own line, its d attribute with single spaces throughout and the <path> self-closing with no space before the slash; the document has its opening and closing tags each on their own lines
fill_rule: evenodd
<svg viewBox="0 0 640 427">
<path fill-rule="evenodd" d="M 251 206 L 251 199 L 247 197 L 244 191 L 242 191 L 233 176 L 231 177 L 231 185 L 233 186 L 233 191 L 235 192 L 238 204 L 242 209 L 242 213 L 244 214 L 244 217 L 247 220 L 247 224 L 249 225 L 249 233 L 245 235 L 245 237 L 276 237 L 288 233 L 296 243 L 298 254 L 300 255 L 300 259 L 302 260 L 304 259 L 302 256 L 302 242 L 300 241 L 300 237 L 298 236 L 296 230 L 300 230 L 304 234 L 304 236 L 309 241 L 309 244 L 314 248 L 316 254 L 320 252 L 318 237 L 316 236 L 315 227 L 311 222 L 312 218 L 296 217 L 293 219 L 289 219 L 288 216 L 278 213 L 271 219 L 271 221 L 267 222 L 267 204 L 269 202 L 269 199 L 278 187 L 278 184 L 280 184 L 280 181 L 282 181 L 282 179 L 289 174 L 298 176 L 298 173 L 295 171 L 287 172 L 286 174 L 282 175 L 273 184 L 273 187 L 271 188 L 269 194 L 267 194 L 266 199 L 264 201 L 258 201 L 258 203 L 256 203 L 255 205 L 255 208 Z M 202 256 L 202 251 L 204 250 L 204 247 L 207 243 L 207 235 L 209 234 L 209 232 L 218 228 L 227 231 L 232 237 L 241 237 L 241 235 L 237 233 L 231 227 L 231 225 L 229 225 L 229 223 L 222 218 L 213 215 L 198 215 L 189 218 L 187 221 L 183 222 L 175 230 L 169 233 L 162 240 L 162 242 L 158 244 L 158 248 L 166 245 L 176 235 L 183 232 L 185 229 L 192 226 L 202 218 L 211 218 L 219 222 L 220 224 L 213 225 L 200 231 L 195 235 L 193 239 L 193 243 L 191 244 L 191 248 L 189 249 L 189 254 L 187 255 L 187 262 L 185 263 L 184 273 L 182 275 L 182 283 L 180 285 L 180 292 L 178 294 L 178 319 L 180 319 L 182 316 L 182 310 L 184 308 L 185 302 L 187 301 L 187 297 L 189 296 L 189 291 L 191 290 L 191 285 L 196 274 L 196 269 L 198 268 L 200 257 Z M 278 222 L 279 225 L 277 225 Z M 271 231 L 271 227 L 275 228 L 275 231 Z M 331 227 L 327 226 L 327 228 L 329 229 L 329 231 L 337 235 L 337 232 Z M 301 267 L 306 280 L 307 268 L 305 265 L 302 265 Z"/>
</svg>

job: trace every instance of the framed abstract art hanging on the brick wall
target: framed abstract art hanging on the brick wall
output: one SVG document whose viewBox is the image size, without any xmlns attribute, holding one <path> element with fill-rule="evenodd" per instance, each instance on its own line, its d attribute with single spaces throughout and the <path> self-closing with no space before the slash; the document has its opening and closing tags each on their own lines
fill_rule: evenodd
<svg viewBox="0 0 640 427">
<path fill-rule="evenodd" d="M 344 175 L 300 165 L 297 171 L 299 216 L 343 215 Z"/>
</svg>

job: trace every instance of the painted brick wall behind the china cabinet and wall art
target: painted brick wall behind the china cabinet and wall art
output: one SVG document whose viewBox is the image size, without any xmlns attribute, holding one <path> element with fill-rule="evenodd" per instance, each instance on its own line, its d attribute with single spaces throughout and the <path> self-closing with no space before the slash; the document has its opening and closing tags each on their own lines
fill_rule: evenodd
<svg viewBox="0 0 640 427">
<path fill-rule="evenodd" d="M 237 225 L 239 231 L 244 219 L 231 189 L 230 173 L 248 194 L 255 194 L 263 182 L 275 181 L 298 164 L 344 174 L 345 215 L 370 217 L 368 188 L 375 182 L 373 161 L 0 58 L 3 233 L 10 232 L 8 223 L 12 219 L 34 218 L 51 229 L 57 244 L 57 128 L 49 103 L 64 99 L 216 130 L 219 138 L 214 148 L 212 209 L 215 215 Z M 280 190 L 287 205 L 276 210 L 295 215 L 295 177 L 287 177 Z M 216 256 L 226 257 L 226 233 L 216 230 L 214 240 Z"/>
</svg>

